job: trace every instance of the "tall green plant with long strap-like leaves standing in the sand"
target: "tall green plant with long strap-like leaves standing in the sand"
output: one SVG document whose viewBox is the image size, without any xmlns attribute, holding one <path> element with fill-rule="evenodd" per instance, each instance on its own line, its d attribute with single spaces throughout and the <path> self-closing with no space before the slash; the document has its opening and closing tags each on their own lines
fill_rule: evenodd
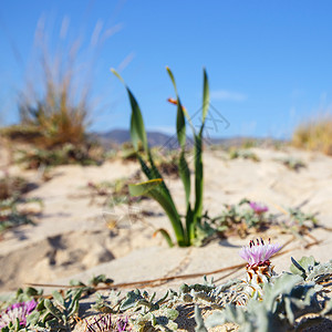
<svg viewBox="0 0 332 332">
<path fill-rule="evenodd" d="M 123 79 L 114 71 L 113 73 L 124 83 Z M 189 115 L 185 107 L 183 107 L 174 75 L 167 68 L 168 75 L 173 82 L 176 92 L 176 104 L 177 104 L 177 120 L 176 120 L 176 132 L 177 141 L 180 147 L 179 157 L 177 165 L 179 169 L 179 176 L 184 184 L 186 193 L 186 215 L 183 217 L 178 212 L 176 205 L 170 196 L 170 193 L 163 181 L 160 172 L 157 169 L 152 151 L 148 146 L 146 138 L 146 131 L 142 113 L 137 101 L 135 100 L 131 90 L 126 86 L 131 106 L 132 106 L 132 118 L 131 118 L 131 136 L 133 146 L 136 151 L 137 158 L 141 163 L 142 170 L 148 178 L 147 183 L 137 185 L 131 185 L 129 190 L 133 196 L 141 196 L 143 194 L 155 199 L 165 210 L 173 226 L 176 241 L 180 247 L 187 247 L 194 243 L 196 238 L 196 228 L 200 222 L 203 214 L 203 193 L 204 193 L 204 170 L 203 170 L 203 132 L 205 126 L 206 116 L 209 107 L 209 86 L 206 71 L 204 71 L 204 89 L 203 89 L 203 107 L 201 107 L 201 126 L 197 133 L 194 125 L 190 122 Z M 124 83 L 125 84 L 125 83 Z M 186 117 L 190 124 L 194 135 L 194 163 L 195 163 L 195 204 L 190 203 L 190 172 L 185 156 L 186 149 Z M 139 145 L 143 146 L 143 152 L 139 152 Z M 166 238 L 169 246 L 173 246 L 173 240 L 169 234 L 163 229 L 162 235 Z"/>
</svg>

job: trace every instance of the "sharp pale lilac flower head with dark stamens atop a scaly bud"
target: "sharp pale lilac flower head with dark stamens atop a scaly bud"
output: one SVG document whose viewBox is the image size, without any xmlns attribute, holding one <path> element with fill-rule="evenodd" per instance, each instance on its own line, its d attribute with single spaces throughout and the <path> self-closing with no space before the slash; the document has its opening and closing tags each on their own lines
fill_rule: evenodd
<svg viewBox="0 0 332 332">
<path fill-rule="evenodd" d="M 269 259 L 281 249 L 280 245 L 266 245 L 262 239 L 251 240 L 249 246 L 242 247 L 240 257 L 248 261 L 249 266 L 269 263 Z"/>
</svg>

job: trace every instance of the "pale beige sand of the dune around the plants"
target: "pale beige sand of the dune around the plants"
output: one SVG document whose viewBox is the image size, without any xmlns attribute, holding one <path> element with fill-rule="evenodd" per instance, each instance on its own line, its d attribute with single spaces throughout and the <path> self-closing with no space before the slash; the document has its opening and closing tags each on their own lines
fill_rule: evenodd
<svg viewBox="0 0 332 332">
<path fill-rule="evenodd" d="M 308 212 L 319 212 L 319 221 L 332 227 L 332 158 L 315 153 L 252 148 L 261 162 L 229 160 L 222 151 L 207 151 L 205 164 L 205 209 L 211 216 L 221 205 L 238 203 L 243 197 L 266 203 L 273 212 L 280 208 L 301 204 Z M 307 164 L 298 173 L 288 169 L 276 158 L 300 158 Z M 7 155 L 0 154 L 2 169 Z M 230 237 L 215 240 L 203 248 L 169 249 L 162 237 L 153 237 L 154 230 L 169 229 L 169 221 L 159 206 L 143 200 L 134 214 L 153 212 L 141 220 L 132 217 L 125 205 L 103 207 L 104 197 L 92 199 L 89 181 L 115 180 L 134 175 L 136 163 L 107 162 L 97 166 L 61 166 L 54 168 L 52 178 L 42 183 L 40 174 L 8 168 L 39 184 L 28 194 L 43 200 L 42 214 L 35 226 L 22 226 L 7 231 L 0 241 L 0 292 L 14 290 L 27 282 L 66 284 L 70 279 L 89 280 L 93 274 L 105 273 L 115 283 L 141 281 L 190 273 L 206 273 L 241 263 L 238 251 L 249 239 Z M 180 210 L 185 210 L 183 186 L 179 179 L 167 178 L 167 185 Z M 276 257 L 277 271 L 287 270 L 290 256 L 314 256 L 328 261 L 332 251 L 331 234 L 315 229 L 311 236 L 321 242 L 304 249 L 305 242 L 293 240 L 287 249 L 291 252 Z M 286 243 L 290 235 L 270 230 L 263 235 L 273 242 Z M 309 242 L 313 238 L 307 238 Z M 231 277 L 243 274 L 238 271 Z M 212 274 L 220 282 L 227 273 Z M 186 282 L 201 281 L 201 277 L 187 278 Z M 157 283 L 158 293 L 177 288 L 184 280 Z M 151 287 L 151 286 L 149 286 Z"/>
</svg>

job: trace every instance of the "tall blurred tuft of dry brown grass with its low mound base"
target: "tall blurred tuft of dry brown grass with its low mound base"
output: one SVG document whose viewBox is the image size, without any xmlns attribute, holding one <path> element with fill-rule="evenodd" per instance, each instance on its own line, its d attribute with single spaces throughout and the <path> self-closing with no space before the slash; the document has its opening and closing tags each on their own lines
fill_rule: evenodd
<svg viewBox="0 0 332 332">
<path fill-rule="evenodd" d="M 86 33 L 73 39 L 68 27 L 64 18 L 56 37 L 52 29 L 48 32 L 45 21 L 38 23 L 27 84 L 19 94 L 20 123 L 0 128 L 15 151 L 24 145 L 20 159 L 29 167 L 100 160 L 100 154 L 92 156 L 97 142 L 89 127 L 96 114 L 92 103 L 96 55 L 110 29 L 104 31 L 97 22 L 86 43 Z"/>
</svg>

